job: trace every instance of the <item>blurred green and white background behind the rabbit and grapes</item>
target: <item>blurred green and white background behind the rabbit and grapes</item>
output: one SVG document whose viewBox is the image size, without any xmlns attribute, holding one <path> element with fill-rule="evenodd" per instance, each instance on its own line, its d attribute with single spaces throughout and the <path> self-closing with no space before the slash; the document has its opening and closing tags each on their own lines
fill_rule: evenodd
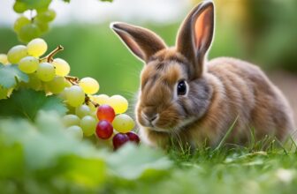
<svg viewBox="0 0 297 194">
<path fill-rule="evenodd" d="M 0 53 L 19 41 L 12 31 L 14 1 L 0 0 Z M 96 78 L 100 93 L 132 100 L 142 63 L 110 31 L 111 21 L 148 27 L 173 45 L 179 24 L 200 0 L 56 0 L 57 19 L 44 39 L 72 67 L 72 76 Z M 261 65 L 297 110 L 297 1 L 217 0 L 216 36 L 209 59 L 238 57 Z M 82 6 L 83 5 L 83 6 Z M 11 9 L 7 9 L 7 8 Z M 296 111 L 295 111 L 296 112 Z"/>
</svg>

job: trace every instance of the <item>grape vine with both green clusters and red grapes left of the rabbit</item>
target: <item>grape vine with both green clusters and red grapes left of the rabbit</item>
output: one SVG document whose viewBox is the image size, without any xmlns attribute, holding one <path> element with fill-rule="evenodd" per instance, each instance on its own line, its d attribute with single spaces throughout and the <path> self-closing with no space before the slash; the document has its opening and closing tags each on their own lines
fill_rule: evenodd
<svg viewBox="0 0 297 194">
<path fill-rule="evenodd" d="M 70 76 L 69 63 L 56 57 L 64 49 L 61 45 L 44 56 L 48 44 L 37 37 L 49 29 L 50 22 L 56 17 L 56 12 L 49 8 L 50 3 L 51 0 L 15 1 L 14 11 L 30 11 L 30 18 L 21 14 L 13 26 L 19 41 L 28 43 L 12 47 L 7 54 L 0 54 L 0 75 L 5 75 L 0 78 L 0 100 L 9 100 L 14 91 L 25 95 L 22 92 L 24 89 L 43 92 L 45 96 L 57 96 L 68 108 L 62 120 L 67 133 L 73 137 L 113 137 L 115 150 L 127 141 L 138 144 L 138 136 L 131 132 L 135 123 L 125 114 L 128 101 L 123 96 L 95 94 L 100 86 L 94 78 Z"/>
</svg>

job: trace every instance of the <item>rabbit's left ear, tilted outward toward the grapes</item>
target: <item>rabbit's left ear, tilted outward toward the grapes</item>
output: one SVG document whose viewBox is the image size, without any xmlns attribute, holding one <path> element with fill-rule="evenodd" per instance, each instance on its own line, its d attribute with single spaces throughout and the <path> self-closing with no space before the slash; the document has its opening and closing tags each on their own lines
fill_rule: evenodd
<svg viewBox="0 0 297 194">
<path fill-rule="evenodd" d="M 142 27 L 120 22 L 112 23 L 110 27 L 133 54 L 145 62 L 148 62 L 150 56 L 166 48 L 164 41 L 158 35 Z"/>
</svg>

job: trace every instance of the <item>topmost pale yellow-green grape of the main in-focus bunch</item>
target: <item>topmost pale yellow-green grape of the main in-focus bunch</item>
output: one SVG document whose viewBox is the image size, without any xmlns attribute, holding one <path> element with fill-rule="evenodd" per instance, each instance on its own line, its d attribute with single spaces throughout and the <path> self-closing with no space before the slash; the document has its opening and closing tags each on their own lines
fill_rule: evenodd
<svg viewBox="0 0 297 194">
<path fill-rule="evenodd" d="M 48 49 L 48 44 L 40 38 L 34 39 L 27 44 L 27 52 L 30 56 L 42 56 Z"/>
</svg>

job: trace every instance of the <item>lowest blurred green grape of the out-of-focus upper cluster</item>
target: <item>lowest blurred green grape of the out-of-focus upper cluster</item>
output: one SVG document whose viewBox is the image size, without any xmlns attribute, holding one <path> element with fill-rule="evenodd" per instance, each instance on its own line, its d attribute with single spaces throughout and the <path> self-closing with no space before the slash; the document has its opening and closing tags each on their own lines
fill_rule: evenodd
<svg viewBox="0 0 297 194">
<path fill-rule="evenodd" d="M 37 38 L 42 34 L 42 31 L 39 29 L 39 27 L 35 24 L 28 24 L 25 26 L 22 26 L 19 30 L 19 40 L 28 42 L 31 41 L 34 38 Z"/>
</svg>

